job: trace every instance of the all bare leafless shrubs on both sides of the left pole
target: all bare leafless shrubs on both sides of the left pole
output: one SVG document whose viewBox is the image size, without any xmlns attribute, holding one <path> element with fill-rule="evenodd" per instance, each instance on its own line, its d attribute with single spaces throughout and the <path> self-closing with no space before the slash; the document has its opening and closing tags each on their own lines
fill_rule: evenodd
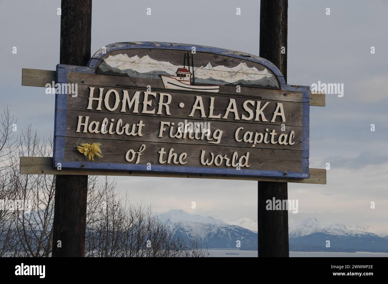
<svg viewBox="0 0 388 284">
<path fill-rule="evenodd" d="M 51 157 L 52 140 L 31 126 L 16 136 L 9 110 L 0 115 L 0 201 L 19 200 L 15 210 L 0 208 L 0 256 L 47 257 L 52 250 L 55 176 L 21 175 L 19 157 Z M 209 256 L 195 240 L 173 236 L 151 207 L 120 197 L 107 177 L 88 178 L 85 256 Z"/>
</svg>

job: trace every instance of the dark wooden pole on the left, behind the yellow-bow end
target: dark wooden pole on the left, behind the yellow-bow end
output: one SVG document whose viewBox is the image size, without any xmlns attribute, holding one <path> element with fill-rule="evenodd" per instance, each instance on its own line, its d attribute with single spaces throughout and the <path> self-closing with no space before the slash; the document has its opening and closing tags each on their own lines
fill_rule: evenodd
<svg viewBox="0 0 388 284">
<path fill-rule="evenodd" d="M 87 65 L 91 30 L 92 0 L 62 0 L 61 64 Z M 87 189 L 88 176 L 56 176 L 53 257 L 85 256 Z"/>
</svg>

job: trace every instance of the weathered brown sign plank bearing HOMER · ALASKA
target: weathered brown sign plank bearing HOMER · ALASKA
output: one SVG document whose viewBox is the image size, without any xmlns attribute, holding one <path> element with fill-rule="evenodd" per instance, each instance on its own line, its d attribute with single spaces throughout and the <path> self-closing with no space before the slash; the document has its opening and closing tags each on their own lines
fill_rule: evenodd
<svg viewBox="0 0 388 284">
<path fill-rule="evenodd" d="M 98 98 L 100 91 L 99 88 L 103 88 L 102 91 L 102 102 L 100 103 L 101 110 L 96 110 L 99 103 L 97 100 L 94 100 L 92 102 L 92 108 L 91 110 L 88 110 L 88 103 L 89 103 L 89 95 L 90 95 L 90 88 L 94 88 L 93 96 L 94 98 Z M 104 98 L 106 96 L 106 93 L 109 90 L 116 90 L 118 92 L 118 101 L 119 104 L 117 108 L 113 111 L 108 110 L 106 108 L 106 103 L 104 102 Z M 269 104 L 264 108 L 263 114 L 265 118 L 268 120 L 267 122 L 263 122 L 262 117 L 260 117 L 260 124 L 285 124 L 286 126 L 302 126 L 303 125 L 303 119 L 308 119 L 308 114 L 303 115 L 303 104 L 307 103 L 300 103 L 300 102 L 282 102 L 276 100 L 276 98 L 283 98 L 284 96 L 282 94 L 279 94 L 279 96 L 274 96 L 272 99 L 263 99 L 261 92 L 266 92 L 266 89 L 257 89 L 257 94 L 255 96 L 246 96 L 246 95 L 239 95 L 239 96 L 227 96 L 227 95 L 219 95 L 219 94 L 204 94 L 204 93 L 182 93 L 179 91 L 159 91 L 152 89 L 153 92 L 156 93 L 156 97 L 149 95 L 148 99 L 151 100 L 151 105 L 147 107 L 149 110 L 156 109 L 155 113 L 158 112 L 159 102 L 167 102 L 167 96 L 164 95 L 163 98 L 161 98 L 161 93 L 168 93 L 171 95 L 171 102 L 169 104 L 169 110 L 170 115 L 166 114 L 166 108 L 162 107 L 161 112 L 162 114 L 142 114 L 141 110 L 143 109 L 143 102 L 144 102 L 144 88 L 118 88 L 118 87 L 109 87 L 106 88 L 105 86 L 88 86 L 88 85 L 78 85 L 78 95 L 76 97 L 72 97 L 71 94 L 68 94 L 66 96 L 66 102 L 67 106 L 59 106 L 58 109 L 71 109 L 76 111 L 85 111 L 85 112 L 99 112 L 99 113 L 106 113 L 106 114 L 131 114 L 131 115 L 141 115 L 141 116 L 157 116 L 157 117 L 172 117 L 172 118 L 180 118 L 180 119 L 206 119 L 206 120 L 219 120 L 219 121 L 231 121 L 231 122 L 241 122 L 241 123 L 254 123 L 257 124 L 258 121 L 254 121 L 256 117 L 256 107 L 258 105 L 258 102 L 260 102 L 260 107 L 263 107 L 265 103 L 269 102 Z M 125 112 L 121 112 L 122 106 L 123 106 L 123 92 L 128 92 L 129 98 L 132 100 L 133 96 L 137 91 L 140 91 L 139 94 L 139 106 L 137 107 L 138 112 L 133 112 L 134 107 L 132 106 L 130 109 L 128 107 L 125 107 Z M 301 93 L 300 93 L 301 94 Z M 194 103 L 196 102 L 197 96 L 201 97 L 201 100 L 203 102 L 203 107 L 205 110 L 205 116 L 201 117 L 201 112 L 199 110 L 196 110 L 194 112 L 194 116 L 188 117 L 188 115 L 192 111 L 192 107 Z M 237 112 L 239 114 L 239 119 L 235 119 L 235 116 L 233 113 L 229 113 L 227 119 L 223 119 L 223 116 L 225 115 L 226 108 L 230 103 L 230 99 L 233 99 L 234 102 L 236 102 L 237 106 Z M 210 118 L 210 103 L 211 100 L 213 100 L 213 115 L 221 115 L 220 118 Z M 246 101 L 252 101 L 251 103 L 247 103 L 246 108 L 249 108 L 253 112 L 253 117 L 250 120 L 243 119 L 244 117 L 249 117 L 249 113 L 244 108 L 244 102 Z M 281 116 L 277 116 L 275 118 L 274 122 L 271 122 L 272 117 L 274 115 L 274 111 L 277 107 L 277 103 L 281 102 L 283 109 L 284 109 L 284 117 L 286 119 L 286 122 L 282 122 Z M 113 107 L 116 103 L 116 96 L 114 94 L 111 94 L 108 97 L 108 104 L 109 107 Z M 181 104 L 183 104 L 183 107 L 181 107 Z"/>
</svg>

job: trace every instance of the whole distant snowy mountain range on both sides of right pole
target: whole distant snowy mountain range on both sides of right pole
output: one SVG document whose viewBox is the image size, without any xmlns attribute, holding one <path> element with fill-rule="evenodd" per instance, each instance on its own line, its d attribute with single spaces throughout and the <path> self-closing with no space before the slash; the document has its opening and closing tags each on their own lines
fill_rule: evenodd
<svg viewBox="0 0 388 284">
<path fill-rule="evenodd" d="M 196 238 L 205 248 L 258 249 L 258 223 L 248 218 L 228 222 L 212 217 L 192 215 L 184 210 L 170 210 L 158 215 L 175 236 Z M 366 225 L 344 225 L 319 222 L 316 218 L 289 221 L 289 247 L 291 251 L 371 251 L 388 252 L 387 234 L 373 233 Z M 330 248 L 326 241 L 330 241 Z"/>
</svg>

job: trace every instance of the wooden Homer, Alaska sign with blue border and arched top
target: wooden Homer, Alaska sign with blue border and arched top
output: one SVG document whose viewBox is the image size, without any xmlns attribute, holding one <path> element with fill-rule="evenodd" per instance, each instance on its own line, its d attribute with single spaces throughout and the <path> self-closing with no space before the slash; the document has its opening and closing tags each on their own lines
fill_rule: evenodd
<svg viewBox="0 0 388 284">
<path fill-rule="evenodd" d="M 56 74 L 55 168 L 310 176 L 310 88 L 265 59 L 116 43 Z"/>
</svg>

